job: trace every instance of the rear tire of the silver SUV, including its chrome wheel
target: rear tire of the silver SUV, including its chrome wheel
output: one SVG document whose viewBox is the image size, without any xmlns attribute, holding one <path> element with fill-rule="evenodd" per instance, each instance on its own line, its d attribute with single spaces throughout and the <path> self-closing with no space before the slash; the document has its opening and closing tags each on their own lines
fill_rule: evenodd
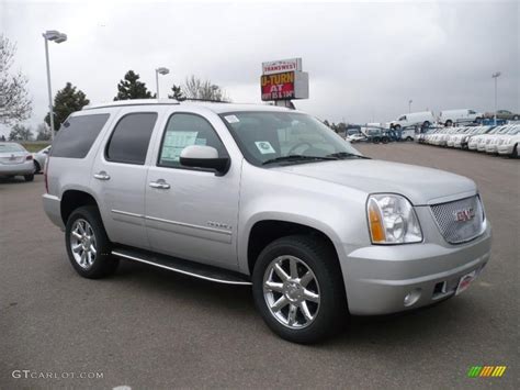
<svg viewBox="0 0 520 390">
<path fill-rule="evenodd" d="M 83 237 L 72 236 L 74 233 Z M 113 275 L 117 269 L 118 259 L 111 254 L 112 245 L 98 208 L 84 205 L 72 211 L 65 226 L 65 243 L 74 269 L 83 278 L 103 278 Z M 79 249 L 75 252 L 72 246 Z"/>
</svg>

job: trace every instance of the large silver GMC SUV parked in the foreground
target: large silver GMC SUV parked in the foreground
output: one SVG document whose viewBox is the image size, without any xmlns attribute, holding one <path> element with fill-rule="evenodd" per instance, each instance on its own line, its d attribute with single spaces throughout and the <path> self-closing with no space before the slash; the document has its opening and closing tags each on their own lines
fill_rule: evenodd
<svg viewBox="0 0 520 390">
<path fill-rule="evenodd" d="M 43 196 L 86 278 L 142 261 L 252 285 L 271 330 L 312 343 L 346 314 L 425 307 L 489 259 L 475 183 L 370 159 L 269 105 L 135 100 L 63 124 Z"/>
</svg>

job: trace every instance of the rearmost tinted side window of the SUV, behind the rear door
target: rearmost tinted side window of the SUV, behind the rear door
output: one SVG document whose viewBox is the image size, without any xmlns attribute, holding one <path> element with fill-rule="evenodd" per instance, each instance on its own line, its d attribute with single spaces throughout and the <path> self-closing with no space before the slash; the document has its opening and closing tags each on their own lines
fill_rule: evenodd
<svg viewBox="0 0 520 390">
<path fill-rule="evenodd" d="M 69 118 L 54 140 L 52 156 L 84 158 L 109 116 L 93 114 Z"/>
</svg>

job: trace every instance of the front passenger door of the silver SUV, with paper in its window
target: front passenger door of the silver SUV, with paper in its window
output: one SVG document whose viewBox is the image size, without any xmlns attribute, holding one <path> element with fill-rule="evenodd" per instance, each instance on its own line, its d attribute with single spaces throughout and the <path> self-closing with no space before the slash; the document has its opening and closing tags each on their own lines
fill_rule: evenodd
<svg viewBox="0 0 520 390">
<path fill-rule="evenodd" d="M 218 118 L 212 119 L 218 123 Z M 222 122 L 222 121 L 221 121 Z M 240 161 L 224 176 L 180 165 L 181 151 L 207 145 L 229 156 L 210 120 L 193 112 L 170 115 L 146 182 L 146 227 L 152 250 L 236 269 Z"/>
</svg>

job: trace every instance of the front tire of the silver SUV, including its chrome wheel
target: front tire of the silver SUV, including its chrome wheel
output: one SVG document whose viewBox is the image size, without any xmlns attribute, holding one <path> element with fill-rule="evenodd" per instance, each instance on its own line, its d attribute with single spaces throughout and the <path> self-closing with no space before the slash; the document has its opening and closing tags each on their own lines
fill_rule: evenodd
<svg viewBox="0 0 520 390">
<path fill-rule="evenodd" d="M 285 282 L 274 270 L 275 264 L 280 264 L 285 271 L 289 278 Z M 292 264 L 296 265 L 296 271 L 291 271 Z M 298 281 L 305 275 L 310 275 L 313 279 L 301 285 Z M 264 290 L 265 281 L 275 283 L 276 290 Z M 309 291 L 318 303 L 303 296 Z M 293 343 L 312 344 L 332 336 L 342 327 L 348 315 L 336 252 L 321 239 L 309 235 L 279 238 L 261 252 L 253 269 L 252 293 L 255 304 L 271 331 Z M 283 305 L 273 311 L 271 305 L 275 302 Z M 310 316 L 305 316 L 304 308 Z M 294 313 L 292 325 L 291 313 Z"/>
</svg>

